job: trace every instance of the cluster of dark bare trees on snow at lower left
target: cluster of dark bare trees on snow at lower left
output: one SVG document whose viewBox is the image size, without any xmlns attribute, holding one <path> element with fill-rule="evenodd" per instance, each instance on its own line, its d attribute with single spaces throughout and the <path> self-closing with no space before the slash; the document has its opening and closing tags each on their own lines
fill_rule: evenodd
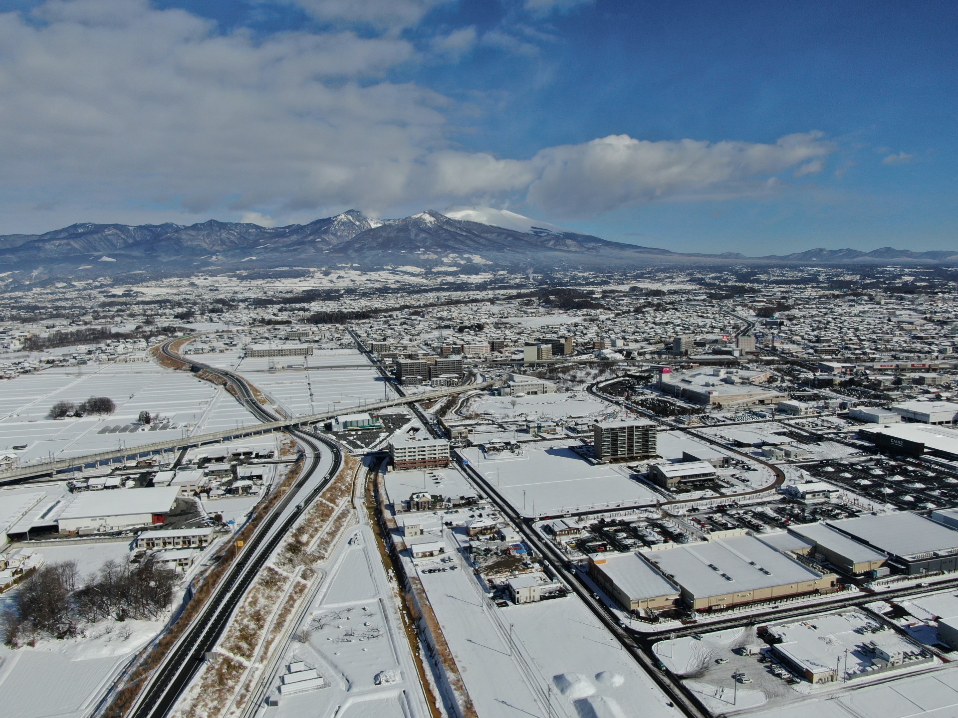
<svg viewBox="0 0 958 718">
<path fill-rule="evenodd" d="M 12 595 L 4 617 L 8 645 L 34 643 L 42 636 L 68 639 L 80 627 L 104 619 L 150 619 L 170 607 L 176 572 L 152 557 L 139 565 L 109 560 L 80 582 L 75 561 L 38 569 Z"/>
</svg>

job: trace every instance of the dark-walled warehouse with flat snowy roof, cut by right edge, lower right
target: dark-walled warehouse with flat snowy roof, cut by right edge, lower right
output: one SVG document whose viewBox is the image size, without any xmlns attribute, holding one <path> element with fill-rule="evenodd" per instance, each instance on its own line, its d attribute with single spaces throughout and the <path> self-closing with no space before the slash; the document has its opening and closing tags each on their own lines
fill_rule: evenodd
<svg viewBox="0 0 958 718">
<path fill-rule="evenodd" d="M 910 511 L 859 516 L 827 526 L 888 555 L 908 575 L 958 569 L 958 531 Z"/>
</svg>

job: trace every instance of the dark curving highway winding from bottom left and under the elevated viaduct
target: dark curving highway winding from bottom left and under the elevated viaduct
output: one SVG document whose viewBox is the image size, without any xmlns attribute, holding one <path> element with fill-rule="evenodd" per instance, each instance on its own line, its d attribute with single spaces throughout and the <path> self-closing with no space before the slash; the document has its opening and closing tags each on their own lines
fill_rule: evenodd
<svg viewBox="0 0 958 718">
<path fill-rule="evenodd" d="M 162 346 L 161 351 L 165 355 L 216 373 L 234 387 L 239 401 L 246 405 L 250 412 L 263 421 L 275 419 L 275 416 L 256 402 L 242 377 L 192 362 L 173 353 L 170 348 L 172 341 Z M 213 595 L 207 599 L 194 621 L 149 676 L 128 715 L 134 718 L 162 718 L 170 712 L 202 665 L 205 653 L 216 646 L 233 611 L 270 554 L 342 465 L 342 454 L 330 439 L 303 429 L 289 429 L 289 433 L 307 448 L 306 463 L 300 478 L 286 492 L 285 497 L 262 518 L 233 566 L 220 580 Z"/>
</svg>

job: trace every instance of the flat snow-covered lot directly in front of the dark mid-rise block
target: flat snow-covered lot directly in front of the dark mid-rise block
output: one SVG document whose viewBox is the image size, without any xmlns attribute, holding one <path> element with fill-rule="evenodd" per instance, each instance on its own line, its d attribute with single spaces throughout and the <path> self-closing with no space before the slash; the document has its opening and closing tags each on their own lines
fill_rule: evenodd
<svg viewBox="0 0 958 718">
<path fill-rule="evenodd" d="M 463 454 L 525 516 L 661 500 L 648 486 L 621 473 L 627 468 L 593 464 L 568 448 L 578 443 L 526 444 L 523 456 L 515 459 L 486 460 L 479 448 Z"/>
</svg>

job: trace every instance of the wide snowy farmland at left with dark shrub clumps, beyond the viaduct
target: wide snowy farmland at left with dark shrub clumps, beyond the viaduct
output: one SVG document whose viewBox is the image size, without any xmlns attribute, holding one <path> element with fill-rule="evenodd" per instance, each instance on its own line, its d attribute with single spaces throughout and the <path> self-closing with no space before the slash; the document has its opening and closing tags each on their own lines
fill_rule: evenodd
<svg viewBox="0 0 958 718">
<path fill-rule="evenodd" d="M 117 409 L 111 415 L 47 419 L 57 401 L 81 402 L 108 396 Z M 168 419 L 166 429 L 154 423 L 135 425 L 141 411 Z M 233 396 L 185 371 L 158 365 L 107 364 L 53 368 L 22 374 L 4 382 L 0 393 L 0 451 L 17 451 L 20 463 L 77 456 L 180 438 L 184 431 L 204 433 L 259 423 Z M 194 429 L 184 428 L 195 425 Z"/>
</svg>

